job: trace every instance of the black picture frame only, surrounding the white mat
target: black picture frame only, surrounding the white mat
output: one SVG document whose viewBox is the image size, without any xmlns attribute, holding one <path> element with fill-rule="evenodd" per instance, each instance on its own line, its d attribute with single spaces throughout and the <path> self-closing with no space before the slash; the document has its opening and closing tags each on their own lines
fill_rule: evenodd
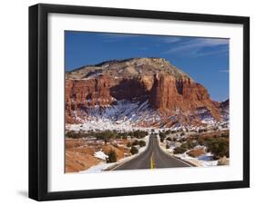
<svg viewBox="0 0 256 205">
<path fill-rule="evenodd" d="M 243 25 L 243 180 L 156 185 L 101 190 L 47 190 L 47 15 L 121 16 Z M 221 190 L 250 187 L 250 18 L 201 15 L 76 5 L 32 5 L 29 7 L 29 198 L 67 200 L 191 190 Z"/>
</svg>

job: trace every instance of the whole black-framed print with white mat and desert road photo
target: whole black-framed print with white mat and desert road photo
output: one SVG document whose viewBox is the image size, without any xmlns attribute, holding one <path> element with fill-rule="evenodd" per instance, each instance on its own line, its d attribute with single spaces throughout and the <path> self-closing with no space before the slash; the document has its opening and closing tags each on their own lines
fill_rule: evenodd
<svg viewBox="0 0 256 205">
<path fill-rule="evenodd" d="M 250 186 L 250 19 L 29 7 L 29 197 Z"/>
</svg>

